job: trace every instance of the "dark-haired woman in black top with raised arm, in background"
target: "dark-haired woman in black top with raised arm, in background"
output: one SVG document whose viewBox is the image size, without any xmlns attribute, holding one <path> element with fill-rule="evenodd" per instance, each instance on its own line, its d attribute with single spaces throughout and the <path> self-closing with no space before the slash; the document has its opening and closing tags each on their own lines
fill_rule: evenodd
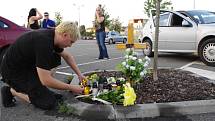
<svg viewBox="0 0 215 121">
<path fill-rule="evenodd" d="M 30 29 L 39 29 L 39 20 L 43 18 L 43 15 L 36 9 L 32 8 L 28 15 L 28 28 Z"/>
</svg>

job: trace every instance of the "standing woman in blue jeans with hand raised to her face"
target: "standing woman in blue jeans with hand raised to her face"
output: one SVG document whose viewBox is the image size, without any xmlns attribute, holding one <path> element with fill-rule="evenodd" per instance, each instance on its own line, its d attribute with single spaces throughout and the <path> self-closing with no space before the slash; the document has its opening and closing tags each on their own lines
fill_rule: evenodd
<svg viewBox="0 0 215 121">
<path fill-rule="evenodd" d="M 99 47 L 99 57 L 98 59 L 109 59 L 107 48 L 105 45 L 105 17 L 101 8 L 101 5 L 96 8 L 96 20 L 95 20 L 95 28 L 96 28 L 96 40 Z"/>
</svg>

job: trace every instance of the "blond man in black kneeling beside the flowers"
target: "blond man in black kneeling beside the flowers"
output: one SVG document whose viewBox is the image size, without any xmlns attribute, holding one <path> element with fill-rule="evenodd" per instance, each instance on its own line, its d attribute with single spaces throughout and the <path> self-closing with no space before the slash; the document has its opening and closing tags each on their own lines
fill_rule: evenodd
<svg viewBox="0 0 215 121">
<path fill-rule="evenodd" d="M 1 88 L 3 106 L 14 106 L 14 96 L 17 96 L 38 108 L 53 109 L 61 95 L 48 88 L 82 93 L 79 85 L 59 81 L 50 71 L 60 65 L 62 57 L 80 81 L 86 79 L 73 56 L 64 49 L 79 38 L 74 22 L 63 22 L 56 29 L 31 31 L 20 36 L 8 48 L 1 63 L 2 80 L 9 85 Z"/>
</svg>

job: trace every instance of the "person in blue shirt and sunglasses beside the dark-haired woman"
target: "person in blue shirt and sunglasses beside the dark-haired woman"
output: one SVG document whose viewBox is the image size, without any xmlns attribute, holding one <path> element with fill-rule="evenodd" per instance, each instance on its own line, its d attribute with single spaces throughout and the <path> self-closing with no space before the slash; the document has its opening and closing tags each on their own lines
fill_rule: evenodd
<svg viewBox="0 0 215 121">
<path fill-rule="evenodd" d="M 45 28 L 45 29 L 53 29 L 53 28 L 55 28 L 55 22 L 52 21 L 51 19 L 49 19 L 49 13 L 48 12 L 44 13 L 44 19 L 43 19 L 43 22 L 42 22 L 42 28 Z"/>
</svg>

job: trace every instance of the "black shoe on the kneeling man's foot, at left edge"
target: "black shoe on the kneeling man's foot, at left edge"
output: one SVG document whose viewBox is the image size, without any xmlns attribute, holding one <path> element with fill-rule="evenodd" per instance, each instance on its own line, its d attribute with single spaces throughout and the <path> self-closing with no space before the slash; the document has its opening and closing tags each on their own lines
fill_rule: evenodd
<svg viewBox="0 0 215 121">
<path fill-rule="evenodd" d="M 1 88 L 2 104 L 4 107 L 13 107 L 15 106 L 15 99 L 10 92 L 10 87 L 4 86 Z"/>
</svg>

